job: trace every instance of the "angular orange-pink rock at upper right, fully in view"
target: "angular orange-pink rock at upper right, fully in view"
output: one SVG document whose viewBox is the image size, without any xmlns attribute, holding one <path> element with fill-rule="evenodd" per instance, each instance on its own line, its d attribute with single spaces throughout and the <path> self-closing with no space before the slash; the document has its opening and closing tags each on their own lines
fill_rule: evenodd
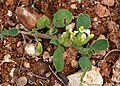
<svg viewBox="0 0 120 86">
<path fill-rule="evenodd" d="M 110 11 L 105 6 L 103 6 L 101 4 L 97 4 L 96 14 L 99 17 L 107 17 L 110 15 Z"/>
</svg>

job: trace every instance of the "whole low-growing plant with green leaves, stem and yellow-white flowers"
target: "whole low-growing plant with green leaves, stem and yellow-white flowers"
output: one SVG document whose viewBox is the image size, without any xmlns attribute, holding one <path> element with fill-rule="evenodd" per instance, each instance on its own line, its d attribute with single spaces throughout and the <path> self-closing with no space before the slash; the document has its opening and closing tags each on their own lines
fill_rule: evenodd
<svg viewBox="0 0 120 86">
<path fill-rule="evenodd" d="M 88 44 L 89 40 L 94 37 L 94 34 L 89 30 L 89 26 L 91 24 L 89 15 L 83 13 L 78 15 L 76 20 L 76 28 L 69 28 L 62 34 L 59 34 L 57 28 L 66 27 L 71 21 L 72 13 L 67 9 L 60 9 L 54 14 L 53 21 L 43 15 L 37 21 L 37 27 L 32 31 L 21 31 L 13 27 L 10 30 L 4 29 L 0 33 L 0 38 L 2 39 L 4 36 L 17 36 L 18 33 L 34 36 L 37 42 L 36 51 L 38 56 L 43 51 L 40 38 L 51 39 L 50 43 L 58 46 L 58 49 L 56 49 L 53 54 L 53 65 L 55 66 L 57 72 L 62 72 L 64 69 L 63 52 L 65 51 L 65 47 L 72 46 L 76 48 L 81 54 L 81 57 L 79 58 L 79 65 L 83 70 L 83 74 L 80 79 L 82 83 L 86 71 L 92 69 L 92 64 L 90 62 L 91 55 L 95 55 L 96 50 L 106 50 L 108 48 L 108 40 L 99 39 L 92 45 Z M 40 33 L 38 31 L 44 30 L 44 28 L 47 29 L 46 33 Z M 57 35 L 57 37 L 54 35 Z M 83 47 L 85 44 L 87 46 Z"/>
</svg>

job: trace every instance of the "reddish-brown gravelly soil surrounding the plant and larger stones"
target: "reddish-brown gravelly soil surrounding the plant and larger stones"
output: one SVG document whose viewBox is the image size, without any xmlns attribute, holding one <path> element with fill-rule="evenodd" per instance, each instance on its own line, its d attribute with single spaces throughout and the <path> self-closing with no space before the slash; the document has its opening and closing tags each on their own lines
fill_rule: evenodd
<svg viewBox="0 0 120 86">
<path fill-rule="evenodd" d="M 98 11 L 98 3 L 105 6 L 108 11 L 110 11 L 110 14 L 104 15 L 96 12 L 96 10 Z M 54 13 L 58 9 L 65 8 L 73 13 L 75 19 L 80 13 L 86 13 L 90 16 L 90 30 L 95 34 L 95 37 L 90 41 L 90 43 L 102 34 L 109 40 L 109 49 L 106 53 L 113 49 L 120 49 L 120 0 L 115 0 L 113 6 L 103 4 L 102 0 L 83 0 L 81 3 L 77 0 L 34 0 L 33 4 L 34 8 L 29 4 L 29 0 L 0 0 L 0 27 L 11 29 L 12 27 L 19 27 L 20 24 L 22 24 L 26 27 L 25 30 L 29 31 L 35 26 L 32 24 L 33 22 L 31 22 L 32 19 L 30 20 L 31 17 L 27 17 L 27 19 L 25 19 L 26 17 L 23 17 L 22 14 L 20 15 L 20 11 L 18 11 L 19 13 L 16 13 L 16 9 L 18 9 L 18 7 L 27 9 L 28 12 L 37 16 L 36 19 L 39 19 L 42 15 L 46 15 L 52 19 Z M 72 7 L 73 5 L 76 7 Z M 8 10 L 12 12 L 12 16 L 8 15 Z M 75 19 L 73 19 L 72 22 L 75 22 Z M 110 21 L 113 21 L 114 24 L 109 24 Z M 112 25 L 113 28 L 110 25 Z M 2 30 L 0 29 L 0 31 Z M 28 79 L 26 86 L 53 86 L 55 83 L 63 85 L 53 73 L 47 79 L 43 79 L 46 78 L 46 73 L 51 72 L 48 65 L 50 65 L 55 71 L 52 63 L 43 61 L 43 53 L 38 57 L 39 59 L 28 56 L 24 53 L 24 46 L 27 43 L 34 42 L 33 37 L 21 34 L 16 37 L 6 36 L 0 40 L 0 63 L 7 54 L 9 54 L 11 59 L 16 62 L 6 62 L 0 65 L 0 84 L 2 84 L 2 86 L 7 86 L 7 84 L 10 86 L 16 86 L 16 80 L 22 76 L 25 76 Z M 50 45 L 49 40 L 47 39 L 42 39 L 42 44 L 44 46 L 43 52 L 47 51 L 52 55 L 56 46 Z M 71 52 L 74 52 L 74 54 L 71 54 Z M 77 72 L 80 68 L 72 68 L 70 63 L 72 59 L 69 59 L 76 59 L 75 57 L 78 55 L 76 50 L 68 48 L 66 49 L 66 53 L 69 55 L 65 58 L 65 68 L 63 73 L 67 76 Z M 104 58 L 104 56 L 105 55 L 100 58 L 98 58 L 98 56 L 92 56 L 91 58 L 93 65 L 100 68 L 100 72 L 104 80 L 103 86 L 120 86 L 120 84 L 111 82 L 113 74 L 112 67 L 120 58 L 120 53 L 112 52 L 106 58 Z M 104 61 L 102 61 L 103 59 Z M 101 64 L 99 64 L 100 61 L 102 61 Z M 24 65 L 25 63 L 28 63 L 27 67 Z M 13 77 L 11 77 L 9 73 L 13 68 L 15 68 L 15 71 L 13 73 Z M 107 69 L 107 71 L 105 69 Z M 36 77 L 34 74 L 43 78 Z M 114 85 L 112 85 L 112 83 L 114 83 Z"/>
</svg>

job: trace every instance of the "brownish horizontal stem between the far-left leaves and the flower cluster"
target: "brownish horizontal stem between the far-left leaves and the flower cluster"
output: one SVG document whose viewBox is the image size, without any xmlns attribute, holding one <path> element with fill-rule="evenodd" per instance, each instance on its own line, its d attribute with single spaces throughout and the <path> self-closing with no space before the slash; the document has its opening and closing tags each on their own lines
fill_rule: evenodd
<svg viewBox="0 0 120 86">
<path fill-rule="evenodd" d="M 52 38 L 56 38 L 56 37 L 54 37 L 54 36 L 48 36 L 48 35 L 42 34 L 42 33 L 30 34 L 29 32 L 25 32 L 25 31 L 19 31 L 19 33 L 25 34 L 25 35 L 34 36 L 34 37 L 40 37 L 40 38 L 43 38 L 43 39 L 52 39 Z"/>
</svg>

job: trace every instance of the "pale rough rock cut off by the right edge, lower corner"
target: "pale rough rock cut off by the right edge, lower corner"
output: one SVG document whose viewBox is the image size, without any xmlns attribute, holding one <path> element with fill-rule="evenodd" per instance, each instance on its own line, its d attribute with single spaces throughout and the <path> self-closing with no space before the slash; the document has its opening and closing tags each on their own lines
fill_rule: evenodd
<svg viewBox="0 0 120 86">
<path fill-rule="evenodd" d="M 112 71 L 113 71 L 112 81 L 116 83 L 120 83 L 120 57 L 114 64 Z"/>
</svg>

